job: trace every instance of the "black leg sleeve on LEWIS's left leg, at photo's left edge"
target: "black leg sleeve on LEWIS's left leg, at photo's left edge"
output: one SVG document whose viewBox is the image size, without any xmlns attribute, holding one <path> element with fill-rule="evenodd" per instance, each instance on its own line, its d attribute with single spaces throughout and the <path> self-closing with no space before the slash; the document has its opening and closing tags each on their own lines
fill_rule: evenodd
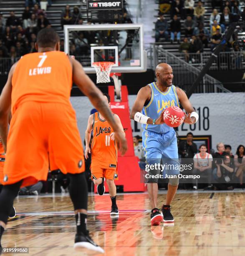
<svg viewBox="0 0 245 256">
<path fill-rule="evenodd" d="M 22 181 L 3 186 L 0 193 L 0 220 L 7 223 L 14 199 L 17 197 Z"/>
</svg>

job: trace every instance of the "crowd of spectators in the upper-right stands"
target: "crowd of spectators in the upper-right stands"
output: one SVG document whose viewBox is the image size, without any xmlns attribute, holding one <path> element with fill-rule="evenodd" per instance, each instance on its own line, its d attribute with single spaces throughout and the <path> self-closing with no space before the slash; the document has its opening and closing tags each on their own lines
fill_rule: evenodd
<svg viewBox="0 0 245 256">
<path fill-rule="evenodd" d="M 188 53 L 201 53 L 205 48 L 213 50 L 220 44 L 222 33 L 232 23 L 239 19 L 242 13 L 238 0 L 212 0 L 212 14 L 209 19 L 209 29 L 205 28 L 204 15 L 206 8 L 202 1 L 194 0 L 160 0 L 159 19 L 155 24 L 155 40 L 171 41 L 176 39 L 179 52 L 185 54 L 186 61 L 189 59 Z M 217 8 L 217 9 L 216 9 Z M 164 18 L 165 13 L 170 13 L 170 19 Z M 180 22 L 183 20 L 183 23 Z M 184 39 L 181 42 L 181 33 Z M 237 41 L 235 35 L 224 44 L 223 51 L 230 51 L 234 42 Z M 236 44 L 233 46 L 238 51 Z"/>
</svg>

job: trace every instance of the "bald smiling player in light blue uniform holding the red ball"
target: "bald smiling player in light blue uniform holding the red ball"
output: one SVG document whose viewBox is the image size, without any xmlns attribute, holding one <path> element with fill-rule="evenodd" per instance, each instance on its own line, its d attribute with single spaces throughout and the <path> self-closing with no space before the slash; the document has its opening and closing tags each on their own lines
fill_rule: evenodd
<svg viewBox="0 0 245 256">
<path fill-rule="evenodd" d="M 193 124 L 198 120 L 198 114 L 189 102 L 185 92 L 172 84 L 173 71 L 167 63 L 156 67 L 157 82 L 142 87 L 134 102 L 130 118 L 142 124 L 142 144 L 147 164 L 160 164 L 161 159 L 178 162 L 177 137 L 174 128 L 164 124 L 163 112 L 169 106 L 178 106 L 179 103 L 186 110 L 184 123 Z M 160 174 L 160 169 L 155 169 L 154 174 Z M 171 174 L 179 174 L 179 169 Z M 153 177 L 153 176 L 152 176 Z M 159 177 L 159 176 L 157 176 Z M 147 189 L 152 207 L 151 224 L 159 225 L 161 221 L 173 222 L 174 217 L 170 212 L 170 204 L 177 192 L 179 179 L 170 178 L 166 203 L 162 206 L 162 214 L 157 208 L 158 179 L 149 178 Z"/>
</svg>

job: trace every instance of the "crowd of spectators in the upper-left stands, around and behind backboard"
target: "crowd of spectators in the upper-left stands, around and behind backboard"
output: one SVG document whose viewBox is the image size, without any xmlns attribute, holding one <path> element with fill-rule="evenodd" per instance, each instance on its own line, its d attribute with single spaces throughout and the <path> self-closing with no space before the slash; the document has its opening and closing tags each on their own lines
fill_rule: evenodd
<svg viewBox="0 0 245 256">
<path fill-rule="evenodd" d="M 30 2 L 33 8 L 29 7 Z M 51 1 L 49 1 L 51 5 Z M 124 8 L 119 17 L 122 23 L 132 23 L 129 14 Z M 83 18 L 78 6 L 72 10 L 66 5 L 61 13 L 61 26 L 83 24 Z M 86 24 L 92 24 L 92 20 L 87 20 Z M 7 18 L 0 13 L 0 58 L 11 58 L 11 64 L 24 54 L 33 53 L 35 49 L 35 41 L 38 31 L 42 28 L 50 27 L 51 23 L 46 17 L 45 10 L 41 10 L 38 1 L 26 0 L 26 7 L 21 18 L 15 15 L 14 11 L 10 11 Z M 80 32 L 74 38 L 71 45 L 71 55 L 81 55 L 88 50 L 88 44 L 95 42 L 93 32 Z M 61 40 L 61 51 L 64 50 L 64 41 Z"/>
</svg>

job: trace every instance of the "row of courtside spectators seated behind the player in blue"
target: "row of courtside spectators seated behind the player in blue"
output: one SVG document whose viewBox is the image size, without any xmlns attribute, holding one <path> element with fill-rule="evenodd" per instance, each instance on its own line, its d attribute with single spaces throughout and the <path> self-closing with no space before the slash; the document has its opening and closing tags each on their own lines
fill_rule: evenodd
<svg viewBox="0 0 245 256">
<path fill-rule="evenodd" d="M 180 184 L 184 189 L 214 189 L 232 190 L 243 187 L 243 176 L 245 173 L 245 146 L 239 145 L 235 155 L 232 148 L 222 142 L 217 143 L 216 152 L 208 148 L 206 144 L 197 144 L 193 141 L 193 134 L 187 133 L 184 140 L 178 143 L 179 159 L 181 164 L 193 164 L 188 173 L 200 175 L 200 179 L 192 180 L 189 184 Z M 144 149 L 140 143 L 141 137 L 134 136 L 134 154 L 144 161 Z"/>
</svg>

